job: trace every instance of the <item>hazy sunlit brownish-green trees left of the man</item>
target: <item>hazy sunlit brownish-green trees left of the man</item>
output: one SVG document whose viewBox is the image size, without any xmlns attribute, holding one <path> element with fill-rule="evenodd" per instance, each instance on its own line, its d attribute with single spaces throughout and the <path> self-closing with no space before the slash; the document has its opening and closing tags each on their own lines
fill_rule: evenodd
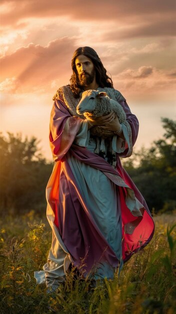
<svg viewBox="0 0 176 314">
<path fill-rule="evenodd" d="M 52 169 L 38 149 L 35 137 L 0 135 L 0 208 L 11 213 L 40 210 L 45 204 L 45 186 Z"/>
</svg>

